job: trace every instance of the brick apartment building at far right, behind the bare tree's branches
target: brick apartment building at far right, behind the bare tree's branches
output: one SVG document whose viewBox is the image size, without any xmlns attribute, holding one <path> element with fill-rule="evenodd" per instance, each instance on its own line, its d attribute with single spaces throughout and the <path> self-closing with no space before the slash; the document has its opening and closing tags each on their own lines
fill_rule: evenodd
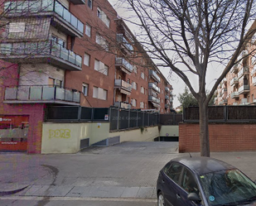
<svg viewBox="0 0 256 206">
<path fill-rule="evenodd" d="M 239 55 L 242 59 L 230 69 L 216 90 L 215 105 L 254 105 L 256 103 L 255 36 Z"/>
</svg>

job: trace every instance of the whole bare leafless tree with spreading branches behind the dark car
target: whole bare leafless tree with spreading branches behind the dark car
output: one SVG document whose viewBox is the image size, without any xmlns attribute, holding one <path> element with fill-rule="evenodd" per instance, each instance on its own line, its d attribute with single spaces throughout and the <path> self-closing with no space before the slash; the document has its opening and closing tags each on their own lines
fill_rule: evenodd
<svg viewBox="0 0 256 206">
<path fill-rule="evenodd" d="M 171 69 L 191 90 L 200 110 L 200 155 L 210 156 L 208 103 L 255 32 L 253 0 L 127 0 L 142 28 L 138 40 L 158 66 Z M 130 22 L 131 18 L 130 18 Z M 252 26 L 250 26 L 252 25 Z M 249 27 L 250 26 L 250 27 Z M 209 95 L 210 64 L 222 65 Z M 198 89 L 190 76 L 198 79 Z"/>
</svg>

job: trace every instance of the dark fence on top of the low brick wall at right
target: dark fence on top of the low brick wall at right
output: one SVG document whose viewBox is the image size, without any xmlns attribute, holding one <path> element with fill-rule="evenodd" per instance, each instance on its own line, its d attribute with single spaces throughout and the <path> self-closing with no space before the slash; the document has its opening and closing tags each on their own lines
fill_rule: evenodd
<svg viewBox="0 0 256 206">
<path fill-rule="evenodd" d="M 183 109 L 184 122 L 199 122 L 199 108 Z M 209 106 L 209 122 L 256 122 L 256 106 Z"/>
</svg>

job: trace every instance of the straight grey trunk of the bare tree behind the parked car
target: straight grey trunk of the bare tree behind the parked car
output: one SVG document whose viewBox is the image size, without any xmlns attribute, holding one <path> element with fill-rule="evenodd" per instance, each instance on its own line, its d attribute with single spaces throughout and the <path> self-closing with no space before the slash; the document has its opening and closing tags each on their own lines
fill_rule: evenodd
<svg viewBox="0 0 256 206">
<path fill-rule="evenodd" d="M 208 104 L 199 103 L 200 115 L 200 156 L 210 156 L 210 141 L 208 129 Z"/>
</svg>

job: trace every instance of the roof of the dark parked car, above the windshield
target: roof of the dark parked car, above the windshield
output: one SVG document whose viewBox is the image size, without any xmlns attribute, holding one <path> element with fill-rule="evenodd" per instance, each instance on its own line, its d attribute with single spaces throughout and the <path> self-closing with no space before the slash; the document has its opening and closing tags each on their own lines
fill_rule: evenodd
<svg viewBox="0 0 256 206">
<path fill-rule="evenodd" d="M 204 175 L 206 173 L 220 170 L 236 169 L 233 165 L 229 165 L 222 160 L 217 160 L 215 158 L 205 156 L 178 157 L 171 160 L 171 162 L 173 161 L 179 162 L 182 165 L 186 165 L 198 175 Z"/>
</svg>

